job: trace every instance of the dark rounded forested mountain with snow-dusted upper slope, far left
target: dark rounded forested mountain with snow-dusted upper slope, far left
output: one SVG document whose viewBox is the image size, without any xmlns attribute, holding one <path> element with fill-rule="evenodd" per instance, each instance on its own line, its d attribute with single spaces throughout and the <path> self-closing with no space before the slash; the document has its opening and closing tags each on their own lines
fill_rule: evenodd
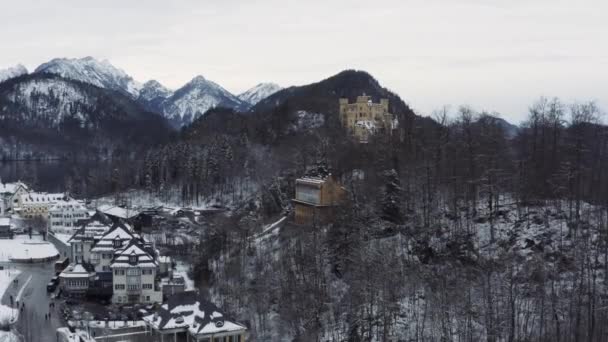
<svg viewBox="0 0 608 342">
<path fill-rule="evenodd" d="M 171 134 L 161 116 L 129 97 L 52 74 L 1 83 L 0 122 L 2 158 L 9 160 L 132 155 Z"/>
</svg>

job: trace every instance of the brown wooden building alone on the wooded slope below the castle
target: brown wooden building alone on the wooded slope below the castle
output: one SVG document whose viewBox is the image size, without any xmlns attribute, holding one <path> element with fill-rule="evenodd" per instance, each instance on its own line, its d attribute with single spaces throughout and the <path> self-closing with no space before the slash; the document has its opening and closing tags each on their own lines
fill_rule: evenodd
<svg viewBox="0 0 608 342">
<path fill-rule="evenodd" d="M 346 190 L 329 175 L 296 179 L 293 199 L 295 223 L 302 225 L 331 222 L 335 207 L 344 199 Z"/>
</svg>

